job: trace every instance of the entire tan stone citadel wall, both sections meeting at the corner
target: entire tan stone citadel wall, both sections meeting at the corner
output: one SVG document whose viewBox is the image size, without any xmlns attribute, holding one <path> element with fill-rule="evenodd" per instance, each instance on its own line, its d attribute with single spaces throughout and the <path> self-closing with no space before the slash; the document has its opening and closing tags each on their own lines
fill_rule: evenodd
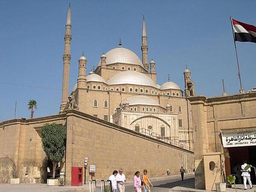
<svg viewBox="0 0 256 192">
<path fill-rule="evenodd" d="M 41 127 L 53 122 L 67 125 L 66 157 L 61 163 L 67 185 L 71 184 L 71 167 L 83 167 L 84 157 L 89 157 L 89 165 L 96 165 L 95 179 L 107 179 L 119 168 L 124 169 L 128 178 L 143 169 L 148 169 L 150 176 L 166 175 L 168 168 L 176 174 L 183 161 L 189 170 L 194 168 L 194 155 L 190 151 L 85 113 L 67 110 L 53 116 L 0 123 L 0 146 L 3 146 L 0 154 L 15 162 L 21 182 L 45 182 L 47 160 L 41 147 Z M 8 160 L 0 162 L 0 177 L 12 172 L 10 168 L 7 173 L 6 165 L 10 165 Z M 90 178 L 87 169 L 87 180 Z"/>
</svg>

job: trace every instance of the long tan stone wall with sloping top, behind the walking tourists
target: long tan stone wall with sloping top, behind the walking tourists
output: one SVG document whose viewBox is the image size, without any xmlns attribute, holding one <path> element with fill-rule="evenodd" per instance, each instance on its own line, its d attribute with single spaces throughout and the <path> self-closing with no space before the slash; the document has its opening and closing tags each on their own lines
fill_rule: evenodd
<svg viewBox="0 0 256 192">
<path fill-rule="evenodd" d="M 107 179 L 120 168 L 128 178 L 143 169 L 148 169 L 150 176 L 166 175 L 168 168 L 177 174 L 183 166 L 183 156 L 186 168 L 192 171 L 194 154 L 189 151 L 79 111 L 67 111 L 67 185 L 71 183 L 71 167 L 83 167 L 84 157 L 89 157 L 88 165 L 96 165 L 93 179 Z M 89 169 L 86 175 L 87 180 L 91 179 Z"/>
</svg>

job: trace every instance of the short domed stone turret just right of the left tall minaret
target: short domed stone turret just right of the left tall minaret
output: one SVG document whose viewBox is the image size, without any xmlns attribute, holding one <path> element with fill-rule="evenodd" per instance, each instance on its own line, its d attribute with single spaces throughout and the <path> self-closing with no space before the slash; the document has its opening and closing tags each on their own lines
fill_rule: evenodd
<svg viewBox="0 0 256 192">
<path fill-rule="evenodd" d="M 87 82 L 86 82 L 86 64 L 87 64 L 87 58 L 83 55 L 79 58 L 79 73 L 78 73 L 78 79 L 77 79 L 77 87 L 78 88 L 86 88 Z"/>
</svg>

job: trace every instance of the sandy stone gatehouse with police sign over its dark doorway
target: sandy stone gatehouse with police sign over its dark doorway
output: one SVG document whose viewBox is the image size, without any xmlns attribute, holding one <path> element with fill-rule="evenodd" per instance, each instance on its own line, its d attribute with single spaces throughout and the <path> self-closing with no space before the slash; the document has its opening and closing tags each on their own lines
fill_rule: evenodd
<svg viewBox="0 0 256 192">
<path fill-rule="evenodd" d="M 196 189 L 215 189 L 215 183 L 225 181 L 223 173 L 236 175 L 241 183 L 243 161 L 256 165 L 256 92 L 211 98 L 194 96 L 189 101 Z M 254 174 L 251 179 L 256 182 Z"/>
</svg>

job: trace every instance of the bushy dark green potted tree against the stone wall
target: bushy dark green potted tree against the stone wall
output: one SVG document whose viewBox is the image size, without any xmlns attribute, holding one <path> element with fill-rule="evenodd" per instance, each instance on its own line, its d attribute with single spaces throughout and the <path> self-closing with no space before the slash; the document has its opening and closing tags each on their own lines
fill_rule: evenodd
<svg viewBox="0 0 256 192">
<path fill-rule="evenodd" d="M 52 161 L 52 177 L 55 178 L 56 166 L 65 155 L 67 128 L 64 125 L 47 123 L 42 128 L 41 137 L 44 152 L 47 158 Z"/>
</svg>

